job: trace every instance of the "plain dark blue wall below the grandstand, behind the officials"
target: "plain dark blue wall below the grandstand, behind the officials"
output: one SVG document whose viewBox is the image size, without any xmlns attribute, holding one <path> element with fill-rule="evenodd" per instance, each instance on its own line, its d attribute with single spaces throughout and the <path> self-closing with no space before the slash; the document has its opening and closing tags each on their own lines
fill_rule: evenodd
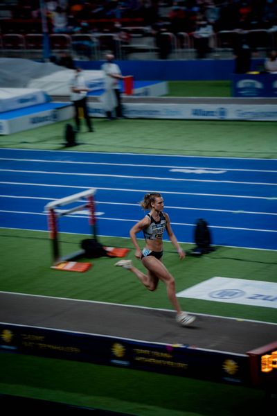
<svg viewBox="0 0 277 416">
<path fill-rule="evenodd" d="M 231 80 L 235 67 L 233 59 L 226 60 L 122 60 L 116 61 L 123 75 L 135 80 Z M 252 60 L 256 70 L 264 59 Z M 82 69 L 100 69 L 103 61 L 75 61 Z"/>
</svg>

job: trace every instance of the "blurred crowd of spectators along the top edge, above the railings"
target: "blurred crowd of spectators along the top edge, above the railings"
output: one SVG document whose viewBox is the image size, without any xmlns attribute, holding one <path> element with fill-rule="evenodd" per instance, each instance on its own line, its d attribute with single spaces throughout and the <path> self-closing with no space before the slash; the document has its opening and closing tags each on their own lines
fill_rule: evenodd
<svg viewBox="0 0 277 416">
<path fill-rule="evenodd" d="M 3 2 L 5 3 L 5 1 Z M 2 3 L 2 4 L 3 4 Z M 98 31 L 99 19 L 139 19 L 154 30 L 191 33 L 206 21 L 213 31 L 277 29 L 276 0 L 45 0 L 50 30 L 73 33 L 82 23 Z M 3 6 L 2 6 L 3 7 Z M 7 2 L 12 19 L 39 19 L 39 0 Z"/>
</svg>

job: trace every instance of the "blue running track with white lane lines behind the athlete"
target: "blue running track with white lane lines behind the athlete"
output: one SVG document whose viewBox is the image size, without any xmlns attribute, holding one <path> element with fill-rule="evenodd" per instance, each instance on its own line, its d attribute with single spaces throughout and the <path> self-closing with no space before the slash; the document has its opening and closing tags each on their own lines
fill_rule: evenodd
<svg viewBox="0 0 277 416">
<path fill-rule="evenodd" d="M 159 191 L 179 242 L 205 218 L 215 245 L 277 250 L 276 159 L 0 149 L 0 160 L 0 227 L 46 231 L 47 202 L 96 188 L 98 234 L 129 238 L 138 202 Z M 89 234 L 87 211 L 60 231 Z"/>
</svg>

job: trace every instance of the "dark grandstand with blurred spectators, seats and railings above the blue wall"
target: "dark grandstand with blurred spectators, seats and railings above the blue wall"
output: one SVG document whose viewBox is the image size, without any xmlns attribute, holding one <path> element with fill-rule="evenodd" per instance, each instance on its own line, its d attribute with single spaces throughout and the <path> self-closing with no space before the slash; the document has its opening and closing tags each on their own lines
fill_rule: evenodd
<svg viewBox="0 0 277 416">
<path fill-rule="evenodd" d="M 211 26 L 205 58 L 230 58 L 243 33 L 256 56 L 277 47 L 276 3 L 260 1 L 3 1 L 0 6 L 0 53 L 5 57 L 44 58 L 44 33 L 49 35 L 52 57 L 66 51 L 73 58 L 101 59 L 107 50 L 122 60 L 197 58 L 198 26 Z M 64 5 L 53 10 L 50 3 Z M 113 6 L 111 6 L 111 3 Z M 246 3 L 246 5 L 245 5 Z M 133 6 L 128 6 L 132 4 Z M 134 8 L 136 4 L 136 8 Z M 62 24 L 55 26 L 56 15 Z M 45 24 L 43 24 L 45 17 Z"/>
</svg>

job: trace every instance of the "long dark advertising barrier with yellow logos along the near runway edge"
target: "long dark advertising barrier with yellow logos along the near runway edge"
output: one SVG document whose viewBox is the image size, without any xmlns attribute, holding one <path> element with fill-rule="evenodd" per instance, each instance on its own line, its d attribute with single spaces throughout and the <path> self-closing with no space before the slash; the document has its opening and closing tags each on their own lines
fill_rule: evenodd
<svg viewBox="0 0 277 416">
<path fill-rule="evenodd" d="M 30 354 L 251 386 L 247 354 L 0 322 L 0 353 Z"/>
</svg>

